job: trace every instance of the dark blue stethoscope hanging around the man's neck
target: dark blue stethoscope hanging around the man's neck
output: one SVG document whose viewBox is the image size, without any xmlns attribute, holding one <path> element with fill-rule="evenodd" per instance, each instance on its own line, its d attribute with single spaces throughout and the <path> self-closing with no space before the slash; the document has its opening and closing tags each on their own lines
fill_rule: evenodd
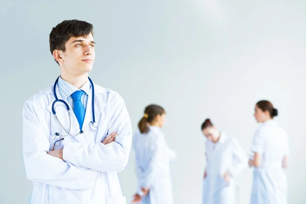
<svg viewBox="0 0 306 204">
<path fill-rule="evenodd" d="M 55 81 L 55 83 L 54 83 L 54 87 L 53 87 L 53 93 L 54 93 L 54 96 L 55 96 L 55 101 L 54 101 L 53 104 L 52 104 L 52 113 L 53 113 L 53 115 L 56 117 L 56 119 L 57 119 L 57 121 L 60 123 L 60 125 L 63 127 L 63 129 L 64 129 L 64 131 L 66 132 L 66 134 L 55 133 L 55 135 L 61 137 L 61 139 L 55 141 L 54 146 L 56 145 L 57 142 L 63 140 L 63 139 L 64 139 L 63 137 L 66 137 L 66 136 L 68 136 L 68 135 L 70 135 L 70 136 L 72 136 L 72 137 L 75 137 L 75 136 L 78 136 L 78 135 L 84 133 L 83 130 L 80 130 L 80 132 L 79 132 L 77 135 L 71 135 L 71 110 L 70 110 L 70 107 L 69 107 L 69 105 L 66 103 L 65 100 L 59 99 L 58 96 L 57 96 L 57 94 L 56 94 L 56 86 L 58 85 L 59 78 L 60 78 L 60 77 L 58 77 L 58 78 L 56 79 L 56 81 Z M 92 129 L 93 131 L 96 131 L 96 130 L 97 130 L 97 125 L 96 125 L 96 123 L 95 123 L 95 115 L 94 115 L 94 86 L 93 86 L 93 82 L 91 81 L 91 79 L 88 78 L 88 80 L 89 80 L 89 82 L 90 82 L 90 84 L 91 84 L 91 89 L 92 89 L 92 101 L 91 101 L 91 102 L 92 102 L 92 121 L 89 122 L 89 126 L 91 127 L 91 129 Z M 68 130 L 65 129 L 64 125 L 60 122 L 59 118 L 58 118 L 57 115 L 56 115 L 56 111 L 55 111 L 55 108 L 54 108 L 54 107 L 55 107 L 55 104 L 58 103 L 58 102 L 63 103 L 63 104 L 66 106 L 66 109 L 67 109 L 67 111 L 68 111 L 68 114 L 69 114 L 69 129 L 68 129 Z"/>
</svg>

